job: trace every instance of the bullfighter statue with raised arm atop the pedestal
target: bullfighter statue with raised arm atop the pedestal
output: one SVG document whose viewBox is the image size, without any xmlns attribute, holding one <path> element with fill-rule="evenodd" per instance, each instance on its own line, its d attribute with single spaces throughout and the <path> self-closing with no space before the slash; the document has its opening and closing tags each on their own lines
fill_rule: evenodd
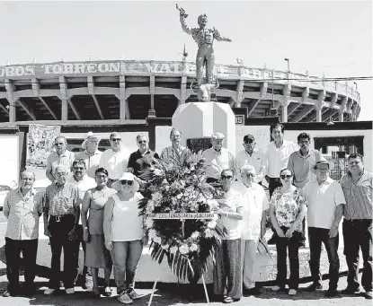
<svg viewBox="0 0 373 306">
<path fill-rule="evenodd" d="M 197 52 L 196 58 L 196 70 L 197 70 L 197 82 L 199 85 L 203 83 L 203 67 L 206 66 L 206 78 L 207 83 L 212 84 L 213 82 L 213 71 L 215 66 L 215 54 L 214 48 L 212 48 L 212 44 L 214 39 L 218 41 L 232 41 L 231 39 L 227 39 L 222 37 L 218 30 L 215 28 L 207 29 L 206 25 L 208 23 L 208 17 L 206 14 L 201 14 L 198 17 L 198 24 L 200 28 L 188 28 L 185 23 L 185 18 L 188 14 L 185 13 L 182 7 L 176 4 L 176 8 L 180 12 L 180 22 L 182 23 L 182 31 L 187 34 L 190 34 L 192 38 L 197 42 L 199 47 Z"/>
</svg>

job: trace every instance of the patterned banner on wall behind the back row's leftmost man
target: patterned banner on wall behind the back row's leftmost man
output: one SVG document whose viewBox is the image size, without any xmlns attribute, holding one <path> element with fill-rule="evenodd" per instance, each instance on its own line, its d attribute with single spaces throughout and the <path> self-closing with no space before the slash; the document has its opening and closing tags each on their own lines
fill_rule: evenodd
<svg viewBox="0 0 373 306">
<path fill-rule="evenodd" d="M 60 133 L 59 126 L 30 125 L 27 136 L 26 166 L 45 169 L 48 155 L 54 152 L 54 140 Z"/>
</svg>

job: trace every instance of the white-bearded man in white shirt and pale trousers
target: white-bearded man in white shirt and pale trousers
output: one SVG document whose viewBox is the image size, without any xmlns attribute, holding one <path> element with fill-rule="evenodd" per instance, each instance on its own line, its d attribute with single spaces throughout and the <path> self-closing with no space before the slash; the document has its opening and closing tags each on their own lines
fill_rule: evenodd
<svg viewBox="0 0 373 306">
<path fill-rule="evenodd" d="M 244 165 L 240 171 L 243 185 L 237 188 L 243 196 L 244 217 L 241 232 L 241 259 L 243 260 L 244 288 L 250 295 L 260 295 L 259 288 L 253 282 L 253 267 L 258 241 L 265 234 L 265 222 L 270 204 L 264 189 L 255 183 L 255 169 L 253 166 Z M 235 187 L 233 187 L 235 188 Z"/>
</svg>

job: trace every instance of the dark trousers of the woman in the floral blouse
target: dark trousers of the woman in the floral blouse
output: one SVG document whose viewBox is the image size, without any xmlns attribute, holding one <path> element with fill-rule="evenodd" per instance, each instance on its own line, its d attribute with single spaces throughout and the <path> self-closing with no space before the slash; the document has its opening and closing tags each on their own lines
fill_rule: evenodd
<svg viewBox="0 0 373 306">
<path fill-rule="evenodd" d="M 289 228 L 281 226 L 284 234 L 288 232 Z M 289 250 L 289 265 L 290 277 L 289 288 L 298 290 L 299 285 L 299 246 L 302 234 L 300 232 L 293 232 L 291 238 L 279 237 L 276 233 L 276 250 L 277 250 L 277 277 L 276 282 L 281 288 L 285 288 L 288 267 L 287 267 L 287 253 Z"/>
</svg>

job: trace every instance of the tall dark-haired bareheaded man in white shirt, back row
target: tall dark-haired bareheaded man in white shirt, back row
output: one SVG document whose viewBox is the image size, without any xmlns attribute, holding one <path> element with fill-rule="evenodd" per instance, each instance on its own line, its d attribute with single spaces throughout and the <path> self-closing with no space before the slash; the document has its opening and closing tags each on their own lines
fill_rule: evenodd
<svg viewBox="0 0 373 306">
<path fill-rule="evenodd" d="M 273 141 L 267 144 L 264 153 L 265 179 L 269 183 L 270 197 L 275 188 L 281 186 L 280 170 L 288 166 L 290 154 L 298 151 L 298 145 L 284 139 L 284 126 L 280 123 L 271 125 Z"/>
</svg>

